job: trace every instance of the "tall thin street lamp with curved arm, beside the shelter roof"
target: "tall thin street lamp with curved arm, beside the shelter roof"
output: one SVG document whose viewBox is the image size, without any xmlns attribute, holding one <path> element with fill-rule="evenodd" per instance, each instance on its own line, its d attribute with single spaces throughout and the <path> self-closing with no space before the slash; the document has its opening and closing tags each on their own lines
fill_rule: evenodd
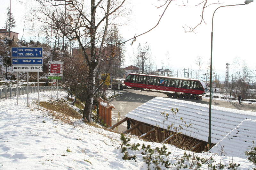
<svg viewBox="0 0 256 170">
<path fill-rule="evenodd" d="M 226 6 L 237 6 L 237 5 L 246 5 L 246 4 L 250 4 L 251 2 L 253 2 L 253 0 L 246 0 L 244 1 L 244 4 L 236 4 L 236 5 L 224 5 L 224 6 L 220 6 L 220 7 L 226 7 Z M 219 9 L 220 7 L 218 7 L 217 9 Z M 216 9 L 216 10 L 217 10 Z M 216 10 L 213 12 L 212 15 L 212 30 L 213 30 L 213 16 L 216 12 Z M 212 118 L 212 37 L 213 37 L 213 31 L 212 31 L 212 35 L 211 35 L 211 64 L 210 64 L 210 100 L 209 100 L 209 137 L 208 137 L 208 149 L 211 148 L 211 118 Z"/>
</svg>

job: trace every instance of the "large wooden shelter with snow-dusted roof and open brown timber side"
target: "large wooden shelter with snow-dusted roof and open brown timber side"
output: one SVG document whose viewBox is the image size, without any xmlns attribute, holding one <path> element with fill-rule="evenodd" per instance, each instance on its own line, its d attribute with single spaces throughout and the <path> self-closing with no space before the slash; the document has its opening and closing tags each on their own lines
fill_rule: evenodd
<svg viewBox="0 0 256 170">
<path fill-rule="evenodd" d="M 150 141 L 170 143 L 178 148 L 202 152 L 208 148 L 209 105 L 193 101 L 156 97 L 126 114 L 132 126 L 124 131 Z M 211 147 L 245 119 L 256 120 L 256 113 L 212 106 Z"/>
</svg>

